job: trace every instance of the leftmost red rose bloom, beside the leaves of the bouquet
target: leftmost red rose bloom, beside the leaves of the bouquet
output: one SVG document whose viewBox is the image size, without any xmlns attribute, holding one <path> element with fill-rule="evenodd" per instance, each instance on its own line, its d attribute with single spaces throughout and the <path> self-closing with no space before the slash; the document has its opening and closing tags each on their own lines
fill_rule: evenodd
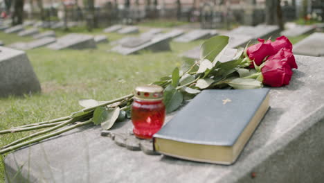
<svg viewBox="0 0 324 183">
<path fill-rule="evenodd" d="M 246 50 L 246 53 L 251 60 L 254 60 L 255 64 L 260 65 L 262 64 L 264 58 L 275 54 L 275 52 L 273 51 L 270 40 L 264 42 L 264 40 L 259 38 L 258 41 L 259 43 L 250 46 Z M 253 63 L 251 63 L 251 67 L 254 67 Z"/>
</svg>

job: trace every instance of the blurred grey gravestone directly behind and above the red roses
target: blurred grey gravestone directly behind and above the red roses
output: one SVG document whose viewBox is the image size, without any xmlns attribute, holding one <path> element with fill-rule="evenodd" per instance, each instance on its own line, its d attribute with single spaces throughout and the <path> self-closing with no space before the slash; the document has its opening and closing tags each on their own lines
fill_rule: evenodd
<svg viewBox="0 0 324 183">
<path fill-rule="evenodd" d="M 258 25 L 258 26 L 240 26 L 228 32 L 228 35 L 248 35 L 253 39 L 268 39 L 269 37 L 278 37 L 280 29 L 278 26 Z"/>
</svg>

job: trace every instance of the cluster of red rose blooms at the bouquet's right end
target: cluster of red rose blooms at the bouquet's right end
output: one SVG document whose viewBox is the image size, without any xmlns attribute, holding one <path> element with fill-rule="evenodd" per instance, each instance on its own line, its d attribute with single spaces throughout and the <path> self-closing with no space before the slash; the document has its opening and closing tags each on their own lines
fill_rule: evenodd
<svg viewBox="0 0 324 183">
<path fill-rule="evenodd" d="M 251 68 L 255 73 L 246 78 L 258 78 L 265 85 L 281 87 L 289 85 L 293 72 L 297 69 L 292 44 L 285 36 L 278 37 L 275 42 L 258 39 L 259 43 L 249 46 L 244 55 L 251 60 Z"/>
</svg>

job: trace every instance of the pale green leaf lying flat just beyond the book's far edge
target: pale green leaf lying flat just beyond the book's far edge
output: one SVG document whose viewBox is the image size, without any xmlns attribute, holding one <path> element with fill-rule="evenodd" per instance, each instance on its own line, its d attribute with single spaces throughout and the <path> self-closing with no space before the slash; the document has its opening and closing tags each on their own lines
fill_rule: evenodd
<svg viewBox="0 0 324 183">
<path fill-rule="evenodd" d="M 262 82 L 251 78 L 236 78 L 228 82 L 234 89 L 255 89 L 261 88 Z"/>
</svg>

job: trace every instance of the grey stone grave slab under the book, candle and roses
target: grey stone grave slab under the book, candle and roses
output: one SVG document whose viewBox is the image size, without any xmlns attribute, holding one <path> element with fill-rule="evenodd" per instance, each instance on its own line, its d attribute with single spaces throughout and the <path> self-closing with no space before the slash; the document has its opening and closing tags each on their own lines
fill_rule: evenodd
<svg viewBox="0 0 324 183">
<path fill-rule="evenodd" d="M 322 182 L 324 58 L 296 55 L 296 60 L 290 85 L 271 89 L 271 109 L 231 166 L 127 150 L 100 137 L 100 126 L 89 125 L 7 155 L 7 180 Z"/>
</svg>

